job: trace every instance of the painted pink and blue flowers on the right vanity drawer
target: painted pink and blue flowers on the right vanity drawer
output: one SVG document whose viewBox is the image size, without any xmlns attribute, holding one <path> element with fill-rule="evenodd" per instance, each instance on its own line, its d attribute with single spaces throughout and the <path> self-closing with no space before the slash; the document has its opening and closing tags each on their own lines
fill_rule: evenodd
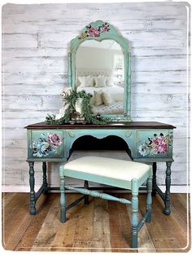
<svg viewBox="0 0 192 256">
<path fill-rule="evenodd" d="M 166 135 L 160 133 L 154 135 L 154 138 L 148 138 L 148 141 L 143 142 L 138 147 L 138 152 L 143 157 L 153 157 L 159 154 L 165 154 L 168 152 L 168 147 L 172 145 L 172 134 Z"/>
</svg>

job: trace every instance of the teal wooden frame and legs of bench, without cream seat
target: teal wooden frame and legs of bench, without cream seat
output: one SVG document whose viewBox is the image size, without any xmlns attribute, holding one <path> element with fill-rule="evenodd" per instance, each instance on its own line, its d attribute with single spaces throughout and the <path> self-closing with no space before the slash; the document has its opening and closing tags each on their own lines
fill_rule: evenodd
<svg viewBox="0 0 192 256">
<path fill-rule="evenodd" d="M 112 160 L 111 160 L 112 161 Z M 91 163 L 85 163 L 91 165 Z M 98 163 L 98 168 L 101 168 Z M 117 198 L 116 196 L 111 196 L 103 192 L 89 191 L 85 188 L 75 188 L 73 186 L 65 185 L 65 177 L 71 177 L 76 179 L 83 179 L 87 181 L 92 181 L 95 183 L 103 183 L 106 185 L 115 186 L 118 188 L 129 189 L 132 192 L 132 201 L 126 200 L 124 198 Z M 151 191 L 152 191 L 152 168 L 149 166 L 149 169 L 146 171 L 146 174 L 142 175 L 138 179 L 132 179 L 130 181 L 124 182 L 124 180 L 112 179 L 110 177 L 103 177 L 97 174 L 87 174 L 85 172 L 79 172 L 76 170 L 64 169 L 64 166 L 59 167 L 59 178 L 60 178 L 60 221 L 62 223 L 66 222 L 66 200 L 65 200 L 65 188 L 69 190 L 75 190 L 84 195 L 90 195 L 95 197 L 100 197 L 106 200 L 111 201 L 120 201 L 123 204 L 131 205 L 132 208 L 132 229 L 131 229 L 131 247 L 137 248 L 137 234 L 141 230 L 145 222 L 151 222 Z M 142 217 L 142 220 L 138 222 L 138 189 L 146 181 L 146 214 Z M 76 205 L 76 201 L 73 206 Z"/>
</svg>

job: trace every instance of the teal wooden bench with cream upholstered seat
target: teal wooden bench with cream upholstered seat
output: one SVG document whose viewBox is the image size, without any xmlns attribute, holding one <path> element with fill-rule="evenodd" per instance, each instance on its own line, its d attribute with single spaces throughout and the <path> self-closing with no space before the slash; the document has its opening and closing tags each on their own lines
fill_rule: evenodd
<svg viewBox="0 0 192 256">
<path fill-rule="evenodd" d="M 151 189 L 152 189 L 152 170 L 151 166 L 133 161 L 124 161 L 107 157 L 81 157 L 69 161 L 64 166 L 59 167 L 60 176 L 60 221 L 66 221 L 66 210 L 77 205 L 83 198 L 88 203 L 88 196 L 97 196 L 111 201 L 120 201 L 123 204 L 129 204 L 132 207 L 132 231 L 131 247 L 137 248 L 137 232 L 142 228 L 143 223 L 151 222 Z M 65 177 L 85 180 L 85 188 L 75 188 L 65 185 Z M 106 193 L 89 191 L 88 181 L 103 183 L 117 188 L 129 189 L 132 192 L 132 201 L 125 198 L 118 198 Z M 146 214 L 138 222 L 138 189 L 142 183 L 146 182 Z M 66 207 L 65 188 L 80 192 L 82 196 L 77 201 Z"/>
</svg>

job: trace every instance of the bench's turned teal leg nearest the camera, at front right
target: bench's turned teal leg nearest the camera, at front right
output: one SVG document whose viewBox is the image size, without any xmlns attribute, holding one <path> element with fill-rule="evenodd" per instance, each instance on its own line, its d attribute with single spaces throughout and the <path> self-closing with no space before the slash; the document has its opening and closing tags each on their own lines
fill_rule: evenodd
<svg viewBox="0 0 192 256">
<path fill-rule="evenodd" d="M 132 180 L 132 230 L 131 230 L 131 247 L 137 248 L 137 225 L 138 225 L 138 185 L 137 179 Z"/>
</svg>

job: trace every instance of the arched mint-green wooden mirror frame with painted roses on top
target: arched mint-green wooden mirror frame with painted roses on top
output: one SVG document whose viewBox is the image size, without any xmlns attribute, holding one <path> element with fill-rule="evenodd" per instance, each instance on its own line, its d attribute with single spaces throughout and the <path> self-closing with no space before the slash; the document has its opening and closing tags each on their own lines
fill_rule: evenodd
<svg viewBox="0 0 192 256">
<path fill-rule="evenodd" d="M 103 26 L 107 27 L 103 31 Z M 87 33 L 89 28 L 101 28 L 99 33 L 95 36 L 91 36 Z M 81 34 L 76 38 L 72 39 L 70 42 L 70 52 L 68 52 L 68 86 L 75 88 L 76 86 L 76 51 L 81 42 L 85 40 L 96 40 L 102 41 L 104 39 L 112 39 L 120 44 L 120 47 L 124 54 L 124 113 L 118 115 L 102 115 L 103 117 L 108 117 L 111 121 L 116 120 L 126 120 L 132 121 L 130 117 L 130 107 L 131 107 L 131 67 L 130 67 L 130 52 L 129 44 L 126 38 L 120 36 L 116 29 L 109 23 L 103 22 L 103 20 L 97 20 L 90 23 L 84 29 L 82 29 Z"/>
</svg>

